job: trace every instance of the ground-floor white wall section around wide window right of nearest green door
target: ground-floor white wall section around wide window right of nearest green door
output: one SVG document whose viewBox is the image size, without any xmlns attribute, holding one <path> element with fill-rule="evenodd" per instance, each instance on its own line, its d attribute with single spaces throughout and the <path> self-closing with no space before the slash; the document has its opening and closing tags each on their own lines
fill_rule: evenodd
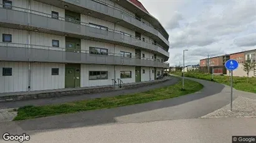
<svg viewBox="0 0 256 143">
<path fill-rule="evenodd" d="M 89 71 L 108 71 L 108 79 L 104 80 L 89 80 Z M 81 87 L 111 85 L 114 79 L 114 66 L 108 65 L 93 65 L 81 64 Z"/>
</svg>

